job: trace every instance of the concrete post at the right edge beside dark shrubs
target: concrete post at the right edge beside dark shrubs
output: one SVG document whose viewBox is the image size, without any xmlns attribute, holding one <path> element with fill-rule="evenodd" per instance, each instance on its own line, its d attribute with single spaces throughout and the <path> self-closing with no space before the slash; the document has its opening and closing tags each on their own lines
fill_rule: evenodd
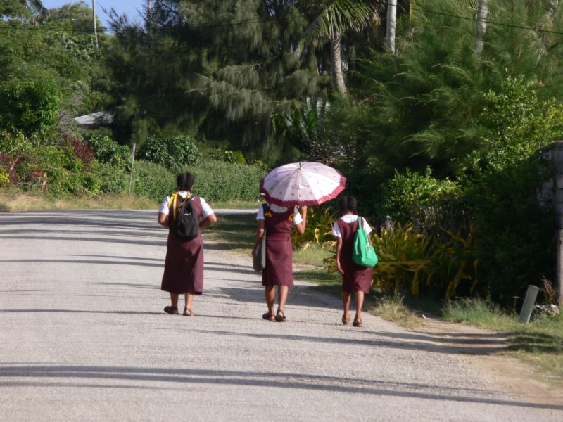
<svg viewBox="0 0 563 422">
<path fill-rule="evenodd" d="M 557 279 L 554 287 L 557 290 L 559 304 L 563 304 L 563 141 L 555 141 L 550 150 L 550 158 L 555 166 L 554 196 L 555 212 L 557 213 Z"/>
</svg>

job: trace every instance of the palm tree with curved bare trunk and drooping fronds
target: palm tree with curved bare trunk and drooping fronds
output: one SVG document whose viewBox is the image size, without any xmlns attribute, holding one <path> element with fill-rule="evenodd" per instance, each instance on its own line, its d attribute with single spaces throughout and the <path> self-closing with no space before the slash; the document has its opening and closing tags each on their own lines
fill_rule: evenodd
<svg viewBox="0 0 563 422">
<path fill-rule="evenodd" d="M 379 13 L 384 10 L 386 0 L 302 0 L 300 3 L 305 7 L 322 7 L 322 12 L 305 30 L 296 54 L 301 55 L 305 46 L 316 39 L 329 41 L 334 87 L 340 94 L 346 95 L 341 58 L 342 34 L 361 32 L 367 25 L 379 21 Z"/>
</svg>

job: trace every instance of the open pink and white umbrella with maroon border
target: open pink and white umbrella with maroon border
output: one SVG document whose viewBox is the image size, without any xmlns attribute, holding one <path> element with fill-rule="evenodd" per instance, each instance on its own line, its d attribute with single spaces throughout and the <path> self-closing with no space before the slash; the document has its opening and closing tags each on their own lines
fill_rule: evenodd
<svg viewBox="0 0 563 422">
<path fill-rule="evenodd" d="M 271 170 L 260 181 L 267 202 L 280 206 L 319 205 L 336 198 L 346 186 L 339 170 L 320 162 L 293 162 Z"/>
</svg>

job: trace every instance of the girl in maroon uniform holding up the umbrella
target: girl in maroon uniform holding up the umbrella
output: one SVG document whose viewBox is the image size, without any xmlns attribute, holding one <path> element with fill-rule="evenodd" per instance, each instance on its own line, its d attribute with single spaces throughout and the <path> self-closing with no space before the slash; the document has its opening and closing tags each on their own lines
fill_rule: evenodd
<svg viewBox="0 0 563 422">
<path fill-rule="evenodd" d="M 284 307 L 289 288 L 293 286 L 293 248 L 291 246 L 291 226 L 295 226 L 298 234 L 305 233 L 307 223 L 307 207 L 279 207 L 275 204 L 261 206 L 258 210 L 258 230 L 254 240 L 254 248 L 266 231 L 266 266 L 262 271 L 262 286 L 266 297 L 268 312 L 262 315 L 269 321 L 283 322 L 286 320 Z M 277 286 L 277 312 L 274 314 L 274 301 Z"/>
</svg>

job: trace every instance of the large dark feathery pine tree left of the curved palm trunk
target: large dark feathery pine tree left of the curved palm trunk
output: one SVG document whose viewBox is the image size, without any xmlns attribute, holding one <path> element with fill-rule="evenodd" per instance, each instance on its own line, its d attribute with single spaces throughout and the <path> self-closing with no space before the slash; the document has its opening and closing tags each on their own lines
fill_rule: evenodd
<svg viewBox="0 0 563 422">
<path fill-rule="evenodd" d="M 270 116 L 329 87 L 315 51 L 293 54 L 310 18 L 296 3 L 160 0 L 144 28 L 115 26 L 110 63 L 113 89 L 126 98 L 115 102 L 122 127 L 134 136 L 131 122 L 144 120 L 148 131 L 197 130 L 251 156 L 291 153 L 273 141 Z"/>
</svg>

